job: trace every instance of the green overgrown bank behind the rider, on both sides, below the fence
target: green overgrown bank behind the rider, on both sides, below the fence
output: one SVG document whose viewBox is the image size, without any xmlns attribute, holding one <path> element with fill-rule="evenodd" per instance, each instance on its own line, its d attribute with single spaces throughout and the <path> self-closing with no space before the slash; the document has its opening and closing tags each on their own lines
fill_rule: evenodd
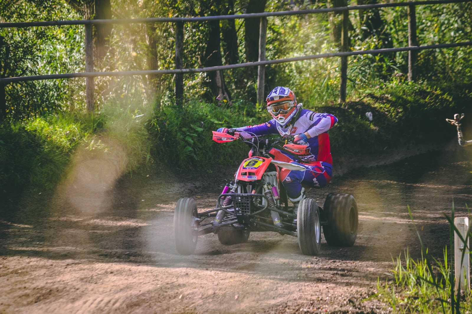
<svg viewBox="0 0 472 314">
<path fill-rule="evenodd" d="M 305 107 L 332 113 L 339 119 L 329 131 L 336 163 L 346 155 L 454 137 L 454 131 L 443 119 L 466 108 L 472 100 L 469 90 L 450 89 L 446 93 L 420 84 L 392 82 L 344 106 Z M 0 192 L 24 186 L 54 186 L 65 176 L 67 164 L 79 146 L 97 151 L 119 150 L 125 156 L 126 171 L 154 166 L 184 171 L 234 167 L 248 148 L 239 142 L 214 143 L 211 131 L 269 120 L 265 110 L 243 101 L 231 105 L 223 101 L 226 107 L 193 99 L 177 108 L 171 104 L 153 107 L 126 95 L 117 99 L 120 101 L 102 106 L 95 116 L 62 113 L 3 123 Z M 368 121 L 366 112 L 373 113 L 372 121 Z"/>
</svg>

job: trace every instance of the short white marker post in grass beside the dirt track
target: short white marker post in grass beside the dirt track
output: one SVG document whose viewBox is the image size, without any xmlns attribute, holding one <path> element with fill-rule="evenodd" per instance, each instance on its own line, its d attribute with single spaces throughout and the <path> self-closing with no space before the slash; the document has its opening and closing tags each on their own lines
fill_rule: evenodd
<svg viewBox="0 0 472 314">
<path fill-rule="evenodd" d="M 469 218 L 455 217 L 454 225 L 465 239 L 469 232 Z M 469 239 L 467 243 L 462 242 L 457 233 L 454 233 L 454 274 L 455 274 L 455 290 L 458 289 L 459 280 L 461 282 L 461 290 L 470 290 L 470 267 L 469 267 Z M 464 259 L 462 259 L 462 251 L 465 250 Z"/>
</svg>

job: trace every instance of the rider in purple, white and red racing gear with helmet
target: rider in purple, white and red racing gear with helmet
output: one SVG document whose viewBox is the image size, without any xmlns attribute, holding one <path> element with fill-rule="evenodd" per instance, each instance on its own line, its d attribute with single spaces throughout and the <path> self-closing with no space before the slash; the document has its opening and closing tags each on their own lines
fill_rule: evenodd
<svg viewBox="0 0 472 314">
<path fill-rule="evenodd" d="M 291 155 L 277 148 L 269 151 L 275 160 L 295 163 L 306 169 L 283 168 L 280 171 L 280 181 L 294 204 L 296 214 L 300 201 L 305 198 L 302 184 L 322 188 L 331 180 L 333 161 L 327 131 L 336 124 L 337 118 L 329 113 L 315 113 L 303 109 L 303 104 L 297 104 L 294 92 L 287 87 L 278 86 L 272 89 L 266 101 L 272 120 L 235 130 L 244 138 L 280 134 L 282 137 L 294 136 L 294 144 L 308 145 L 307 154 L 300 156 L 300 162 L 294 161 Z M 227 128 L 219 128 L 218 131 L 228 133 Z"/>
</svg>

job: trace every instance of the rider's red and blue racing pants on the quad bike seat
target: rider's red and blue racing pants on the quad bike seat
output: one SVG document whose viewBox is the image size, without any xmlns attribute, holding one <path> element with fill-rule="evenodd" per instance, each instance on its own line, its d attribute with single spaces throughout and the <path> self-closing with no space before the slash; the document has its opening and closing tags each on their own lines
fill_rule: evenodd
<svg viewBox="0 0 472 314">
<path fill-rule="evenodd" d="M 278 161 L 286 161 L 296 165 L 303 166 L 306 170 L 289 170 L 282 169 L 280 171 L 280 181 L 287 190 L 288 197 L 295 199 L 300 196 L 302 184 L 315 189 L 325 187 L 331 180 L 333 166 L 324 161 L 311 161 L 308 163 L 299 163 L 293 161 L 292 157 L 284 154 L 282 151 L 272 148 L 269 152 L 275 156 Z"/>
</svg>

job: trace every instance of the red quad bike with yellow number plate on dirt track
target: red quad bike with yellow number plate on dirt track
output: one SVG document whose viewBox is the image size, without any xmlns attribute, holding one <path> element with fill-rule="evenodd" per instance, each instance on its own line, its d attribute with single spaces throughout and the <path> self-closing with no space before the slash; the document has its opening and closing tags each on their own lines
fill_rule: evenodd
<svg viewBox="0 0 472 314">
<path fill-rule="evenodd" d="M 234 131 L 230 129 L 230 133 L 234 134 Z M 198 237 L 207 233 L 216 233 L 219 242 L 231 245 L 247 242 L 251 232 L 274 231 L 298 238 L 302 253 L 315 255 L 320 251 L 321 226 L 329 245 L 354 245 L 358 213 L 353 195 L 329 193 L 323 208 L 315 200 L 305 198 L 300 201 L 297 215 L 292 206 L 289 207 L 287 193 L 279 180 L 280 169 L 305 168 L 273 160 L 267 152 L 271 148 L 282 149 L 296 161 L 299 160 L 297 156 L 306 153 L 308 146 L 290 143 L 292 138 L 287 137 L 253 137 L 247 140 L 213 131 L 213 140 L 217 143 L 236 139 L 251 147 L 250 157 L 241 162 L 235 182 L 223 188 L 216 208 L 198 212 L 192 198 L 184 197 L 177 201 L 174 237 L 178 253 L 192 254 Z"/>
</svg>

